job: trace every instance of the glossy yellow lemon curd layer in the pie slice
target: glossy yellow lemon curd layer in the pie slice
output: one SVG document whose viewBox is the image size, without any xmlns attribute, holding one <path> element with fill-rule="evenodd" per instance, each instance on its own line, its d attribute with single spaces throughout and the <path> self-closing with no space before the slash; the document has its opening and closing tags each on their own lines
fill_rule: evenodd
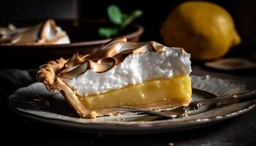
<svg viewBox="0 0 256 146">
<path fill-rule="evenodd" d="M 191 101 L 191 96 L 191 77 L 176 75 L 170 79 L 155 79 L 107 93 L 79 97 L 79 100 L 86 108 L 93 110 L 118 105 L 140 106 L 161 102 L 170 103 L 172 106 L 187 105 Z"/>
</svg>

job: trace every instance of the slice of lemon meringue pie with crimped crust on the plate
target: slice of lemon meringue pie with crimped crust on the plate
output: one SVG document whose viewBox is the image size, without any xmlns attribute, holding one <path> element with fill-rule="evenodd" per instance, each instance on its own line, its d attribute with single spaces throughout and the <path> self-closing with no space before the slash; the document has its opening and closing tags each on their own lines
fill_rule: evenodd
<svg viewBox="0 0 256 146">
<path fill-rule="evenodd" d="M 158 110 L 191 101 L 189 58 L 182 48 L 120 37 L 95 53 L 48 62 L 37 80 L 61 91 L 83 118 L 116 115 L 119 105 Z"/>
</svg>

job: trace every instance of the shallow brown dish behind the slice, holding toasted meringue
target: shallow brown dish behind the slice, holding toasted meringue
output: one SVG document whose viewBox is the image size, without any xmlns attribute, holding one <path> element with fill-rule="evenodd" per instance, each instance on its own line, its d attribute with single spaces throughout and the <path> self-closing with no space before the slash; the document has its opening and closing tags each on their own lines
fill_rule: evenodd
<svg viewBox="0 0 256 146">
<path fill-rule="evenodd" d="M 57 20 L 56 24 L 61 26 L 64 31 L 67 31 L 69 39 L 71 40 L 70 44 L 38 46 L 0 45 L 0 68 L 36 69 L 47 61 L 56 60 L 57 58 L 69 58 L 74 53 L 90 53 L 94 51 L 95 47 L 99 47 L 110 41 L 110 39 L 97 36 L 97 28 L 99 28 L 99 26 L 108 25 L 102 21 Z M 24 24 L 20 26 L 24 26 Z M 132 24 L 118 36 L 127 37 L 130 42 L 138 42 L 141 34 L 143 34 L 143 26 Z"/>
</svg>

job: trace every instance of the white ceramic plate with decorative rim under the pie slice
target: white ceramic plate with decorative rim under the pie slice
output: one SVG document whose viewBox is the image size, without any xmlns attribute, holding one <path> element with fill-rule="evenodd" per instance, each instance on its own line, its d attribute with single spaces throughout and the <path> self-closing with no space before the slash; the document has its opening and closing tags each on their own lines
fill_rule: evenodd
<svg viewBox="0 0 256 146">
<path fill-rule="evenodd" d="M 248 89 L 241 82 L 195 75 L 192 75 L 192 88 L 193 101 L 211 99 Z M 50 93 L 39 82 L 15 91 L 9 97 L 9 104 L 13 110 L 28 118 L 55 124 L 69 130 L 108 134 L 152 134 L 198 128 L 240 115 L 256 105 L 255 101 L 228 105 L 216 104 L 190 112 L 188 117 L 177 119 L 164 119 L 159 116 L 138 113 L 85 119 L 78 117 L 64 101 L 61 93 Z"/>
</svg>

